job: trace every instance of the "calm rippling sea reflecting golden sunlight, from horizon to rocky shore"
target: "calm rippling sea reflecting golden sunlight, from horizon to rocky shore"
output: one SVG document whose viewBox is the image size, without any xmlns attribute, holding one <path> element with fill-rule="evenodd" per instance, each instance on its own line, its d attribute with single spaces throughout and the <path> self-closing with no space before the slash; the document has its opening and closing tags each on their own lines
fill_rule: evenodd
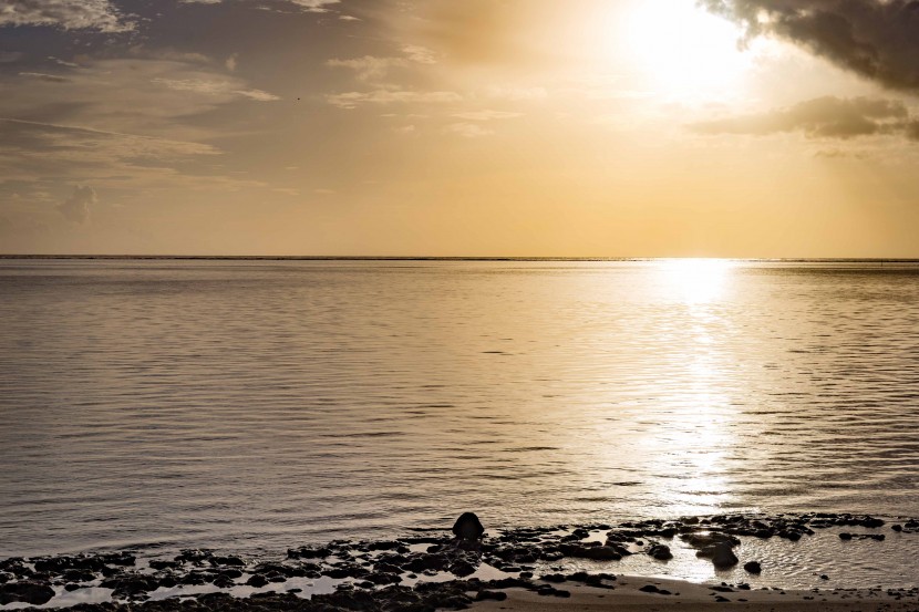
<svg viewBox="0 0 919 612">
<path fill-rule="evenodd" d="M 919 515 L 919 266 L 0 261 L 0 557 Z"/>
</svg>

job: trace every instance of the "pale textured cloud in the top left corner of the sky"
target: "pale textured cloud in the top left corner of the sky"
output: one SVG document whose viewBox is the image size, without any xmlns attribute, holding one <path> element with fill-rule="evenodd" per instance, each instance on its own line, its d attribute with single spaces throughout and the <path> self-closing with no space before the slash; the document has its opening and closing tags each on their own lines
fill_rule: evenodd
<svg viewBox="0 0 919 612">
<path fill-rule="evenodd" d="M 50 25 L 63 30 L 124 32 L 135 23 L 122 15 L 109 0 L 4 0 L 2 25 Z"/>
</svg>

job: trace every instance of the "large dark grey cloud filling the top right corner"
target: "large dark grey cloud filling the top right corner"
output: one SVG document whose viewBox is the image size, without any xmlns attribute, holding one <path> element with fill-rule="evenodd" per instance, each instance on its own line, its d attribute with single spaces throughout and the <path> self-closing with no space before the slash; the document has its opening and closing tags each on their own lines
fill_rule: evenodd
<svg viewBox="0 0 919 612">
<path fill-rule="evenodd" d="M 917 0 L 700 1 L 750 38 L 772 34 L 886 87 L 919 91 Z"/>
</svg>

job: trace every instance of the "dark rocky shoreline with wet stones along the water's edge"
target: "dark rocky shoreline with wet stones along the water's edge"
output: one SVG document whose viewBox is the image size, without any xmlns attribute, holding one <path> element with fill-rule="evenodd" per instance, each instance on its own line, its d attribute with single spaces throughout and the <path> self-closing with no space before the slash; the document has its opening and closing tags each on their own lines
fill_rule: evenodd
<svg viewBox="0 0 919 612">
<path fill-rule="evenodd" d="M 80 612 L 332 612 L 458 610 L 475 602 L 500 602 L 508 593 L 512 600 L 519 601 L 526 601 L 519 593 L 548 602 L 569 599 L 572 592 L 577 597 L 593 593 L 591 597 L 599 600 L 606 591 L 623 591 L 622 577 L 612 572 L 617 561 L 626 557 L 642 554 L 653 562 L 667 563 L 673 556 L 671 548 L 679 541 L 691 547 L 702 562 L 716 569 L 743 568 L 745 575 L 753 579 L 762 571 L 763 560 L 740 558 L 737 547 L 742 539 L 781 538 L 796 542 L 824 529 L 836 530 L 839 540 L 846 542 L 884 540 L 889 532 L 919 533 L 919 521 L 886 522 L 864 515 L 724 515 L 522 528 L 489 536 L 483 533 L 477 517 L 464 515 L 453 533 L 333 541 L 291 548 L 283 559 L 275 560 L 249 560 L 209 550 L 183 550 L 168 558 L 132 551 L 10 558 L 0 561 L 0 605 L 74 604 L 72 609 Z M 566 560 L 589 561 L 599 569 L 551 571 Z M 308 588 L 318 583 L 323 588 Z M 638 584 L 632 579 L 630 583 L 636 597 L 658 602 L 677 597 L 677 591 L 660 587 L 659 582 Z M 739 594 L 763 590 L 746 582 L 704 588 L 712 603 L 750 601 L 750 595 Z M 105 597 L 104 601 L 79 603 L 81 593 Z M 835 593 L 843 602 L 846 593 Z M 915 603 L 919 594 L 915 589 L 879 593 L 885 601 L 898 603 Z M 801 601 L 807 601 L 806 597 L 802 595 Z"/>
</svg>

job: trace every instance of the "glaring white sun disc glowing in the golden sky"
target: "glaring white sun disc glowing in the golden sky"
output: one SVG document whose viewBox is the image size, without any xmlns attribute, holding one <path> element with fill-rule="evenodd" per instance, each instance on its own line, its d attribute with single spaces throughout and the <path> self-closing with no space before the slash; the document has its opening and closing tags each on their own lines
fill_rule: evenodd
<svg viewBox="0 0 919 612">
<path fill-rule="evenodd" d="M 754 51 L 739 45 L 740 28 L 695 0 L 634 0 L 619 24 L 617 52 L 657 94 L 730 95 L 753 63 Z"/>
</svg>

